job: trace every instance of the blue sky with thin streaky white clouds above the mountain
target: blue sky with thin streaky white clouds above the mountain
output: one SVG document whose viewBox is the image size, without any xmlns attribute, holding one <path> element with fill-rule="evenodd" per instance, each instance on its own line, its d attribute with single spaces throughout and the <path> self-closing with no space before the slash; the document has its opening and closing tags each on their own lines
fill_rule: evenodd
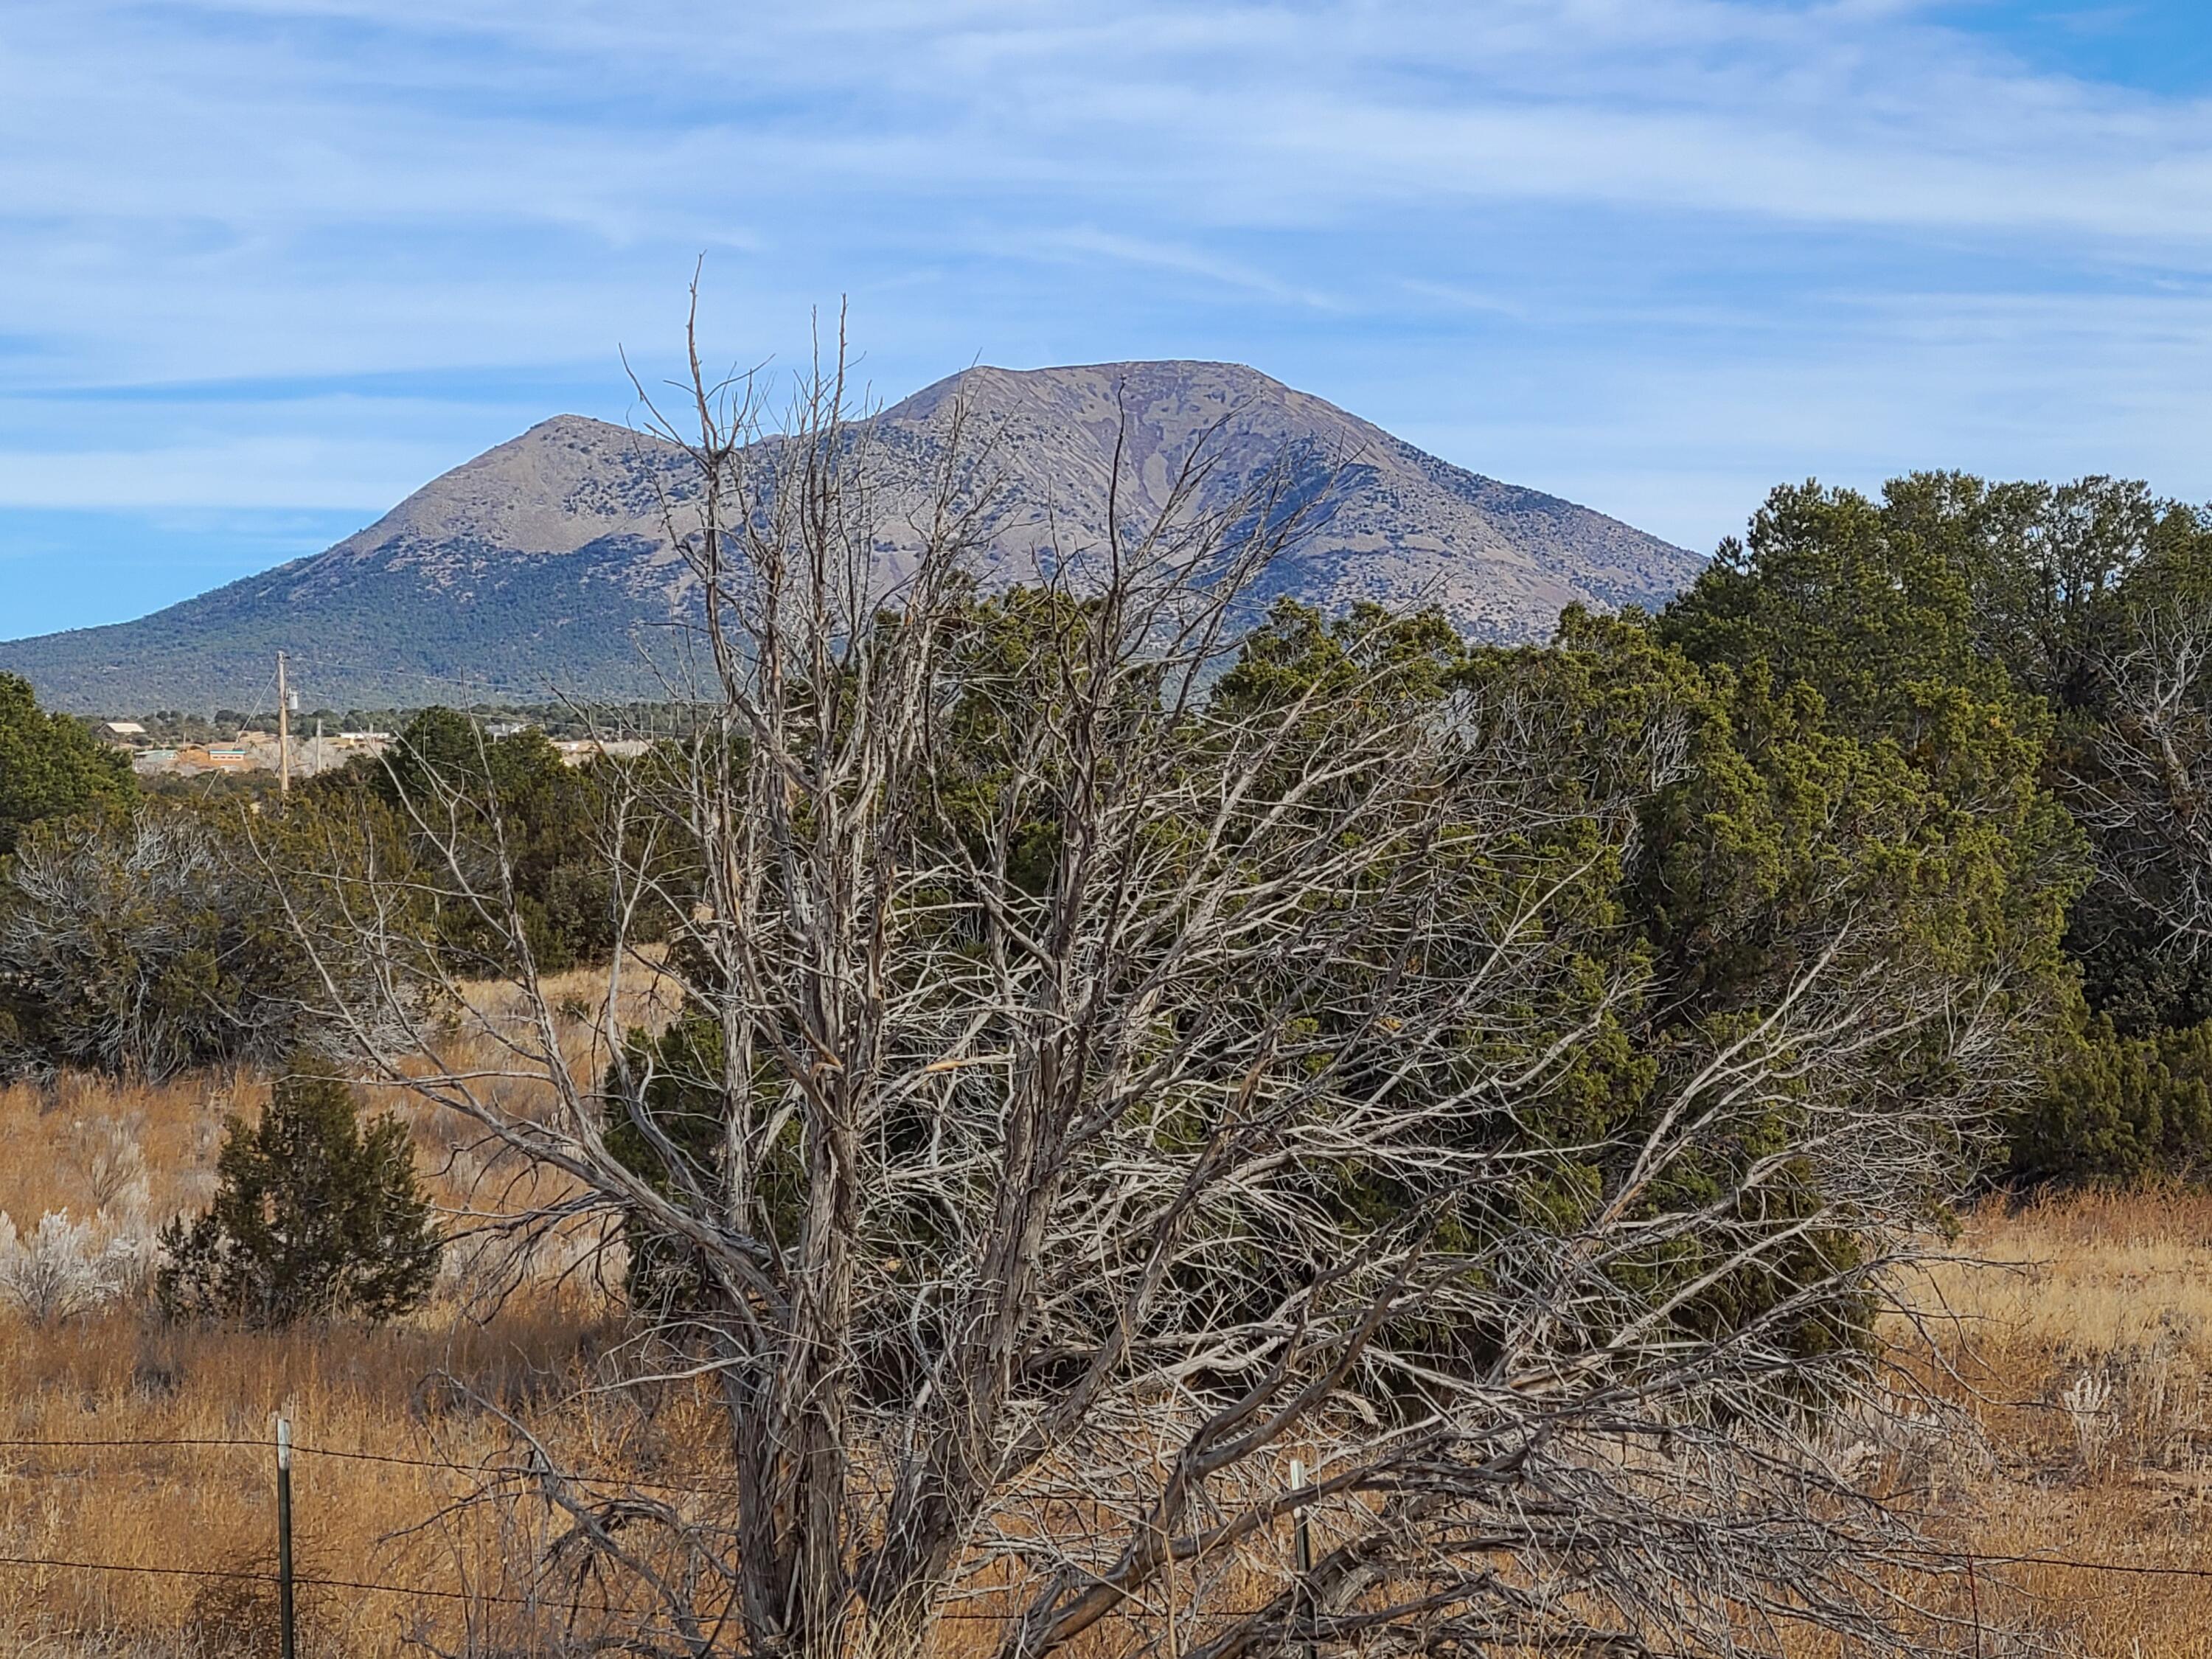
<svg viewBox="0 0 2212 1659">
<path fill-rule="evenodd" d="M 2212 498 L 2203 0 L 0 7 L 0 637 L 310 553 L 617 352 L 1252 363 L 1710 549 Z"/>
</svg>

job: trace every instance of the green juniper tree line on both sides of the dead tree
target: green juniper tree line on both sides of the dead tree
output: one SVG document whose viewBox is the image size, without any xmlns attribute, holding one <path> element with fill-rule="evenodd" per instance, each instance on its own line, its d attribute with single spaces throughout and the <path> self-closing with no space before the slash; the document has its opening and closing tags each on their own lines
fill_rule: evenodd
<svg viewBox="0 0 2212 1659">
<path fill-rule="evenodd" d="M 1542 699 L 1571 717 L 1577 761 L 1604 763 L 1672 710 L 1677 772 L 1632 841 L 1555 898 L 1593 984 L 1635 962 L 1668 987 L 1606 1011 L 1617 1037 L 1577 1062 L 1590 1113 L 1648 1086 L 1668 1031 L 1767 1006 L 1849 925 L 1898 962 L 1942 960 L 2033 1006 L 2011 1179 L 2197 1179 L 2212 1172 L 2208 615 L 2212 522 L 2194 509 L 2101 478 L 1922 473 L 1878 500 L 1778 489 L 1657 617 L 1573 611 L 1548 646 L 1283 604 L 1217 697 L 1325 681 L 1327 703 L 1354 703 L 1383 670 L 1352 641 L 1387 637 L 1391 672 L 1420 666 L 1420 690 L 1396 695 Z M 978 648 L 1035 650 L 1044 626 L 1018 597 L 975 608 Z M 940 739 L 982 765 L 1009 734 L 969 721 Z M 701 741 L 644 763 L 679 765 Z M 491 737 L 482 714 L 434 708 L 387 759 L 303 783 L 281 816 L 155 803 L 80 721 L 0 677 L 9 1064 L 166 1075 L 290 1053 L 316 998 L 292 942 L 305 889 L 285 874 L 338 847 L 405 869 L 425 949 L 456 969 L 604 960 L 619 931 L 613 765 L 566 768 L 542 730 Z M 476 865 L 440 867 L 456 847 Z M 681 845 L 655 858 L 675 887 L 695 880 Z M 520 938 L 473 905 L 493 863 Z"/>
</svg>

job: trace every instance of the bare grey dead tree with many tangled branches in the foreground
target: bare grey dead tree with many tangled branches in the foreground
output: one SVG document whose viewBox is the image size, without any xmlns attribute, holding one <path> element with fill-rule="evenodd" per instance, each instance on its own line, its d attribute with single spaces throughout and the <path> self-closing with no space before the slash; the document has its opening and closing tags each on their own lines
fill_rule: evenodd
<svg viewBox="0 0 2212 1659">
<path fill-rule="evenodd" d="M 396 978 L 358 1013 L 389 1079 L 562 1181 L 513 1225 L 672 1263 L 628 1380 L 712 1389 L 728 1500 L 533 1462 L 555 1559 L 624 1586 L 606 1641 L 1944 1650 L 1845 1338 L 2004 1082 L 2004 1000 L 1840 929 L 1562 1135 L 1644 991 L 1593 980 L 1566 896 L 1681 765 L 1663 710 L 1593 757 L 1542 697 L 1416 695 L 1360 639 L 1352 692 L 1219 697 L 1310 491 L 1221 507 L 1201 440 L 1137 511 L 1117 462 L 1104 538 L 980 602 L 967 416 L 929 491 L 841 363 L 761 427 L 695 356 L 706 714 L 606 825 L 624 936 L 668 942 L 617 953 L 602 1018 L 666 975 L 692 1046 L 564 1057 L 460 785 L 416 807 L 425 880 L 504 931 L 524 1018 Z M 418 898 L 343 902 L 374 938 Z"/>
</svg>

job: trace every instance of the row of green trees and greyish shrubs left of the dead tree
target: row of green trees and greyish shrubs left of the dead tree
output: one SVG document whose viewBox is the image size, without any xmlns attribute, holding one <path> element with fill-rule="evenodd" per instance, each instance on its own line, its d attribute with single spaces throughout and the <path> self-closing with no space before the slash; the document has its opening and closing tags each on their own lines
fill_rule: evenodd
<svg viewBox="0 0 2212 1659">
<path fill-rule="evenodd" d="M 611 765 L 571 768 L 538 730 L 493 739 L 431 708 L 389 757 L 305 779 L 281 810 L 274 787 L 142 790 L 124 754 L 0 675 L 0 1071 L 168 1077 L 314 1048 L 330 982 L 301 929 L 327 931 L 347 883 L 387 883 L 398 936 L 456 971 L 511 967 L 449 902 L 451 847 L 420 856 L 462 799 L 482 858 L 511 869 L 533 967 L 604 960 Z M 354 960 L 347 984 L 383 967 Z"/>
</svg>

